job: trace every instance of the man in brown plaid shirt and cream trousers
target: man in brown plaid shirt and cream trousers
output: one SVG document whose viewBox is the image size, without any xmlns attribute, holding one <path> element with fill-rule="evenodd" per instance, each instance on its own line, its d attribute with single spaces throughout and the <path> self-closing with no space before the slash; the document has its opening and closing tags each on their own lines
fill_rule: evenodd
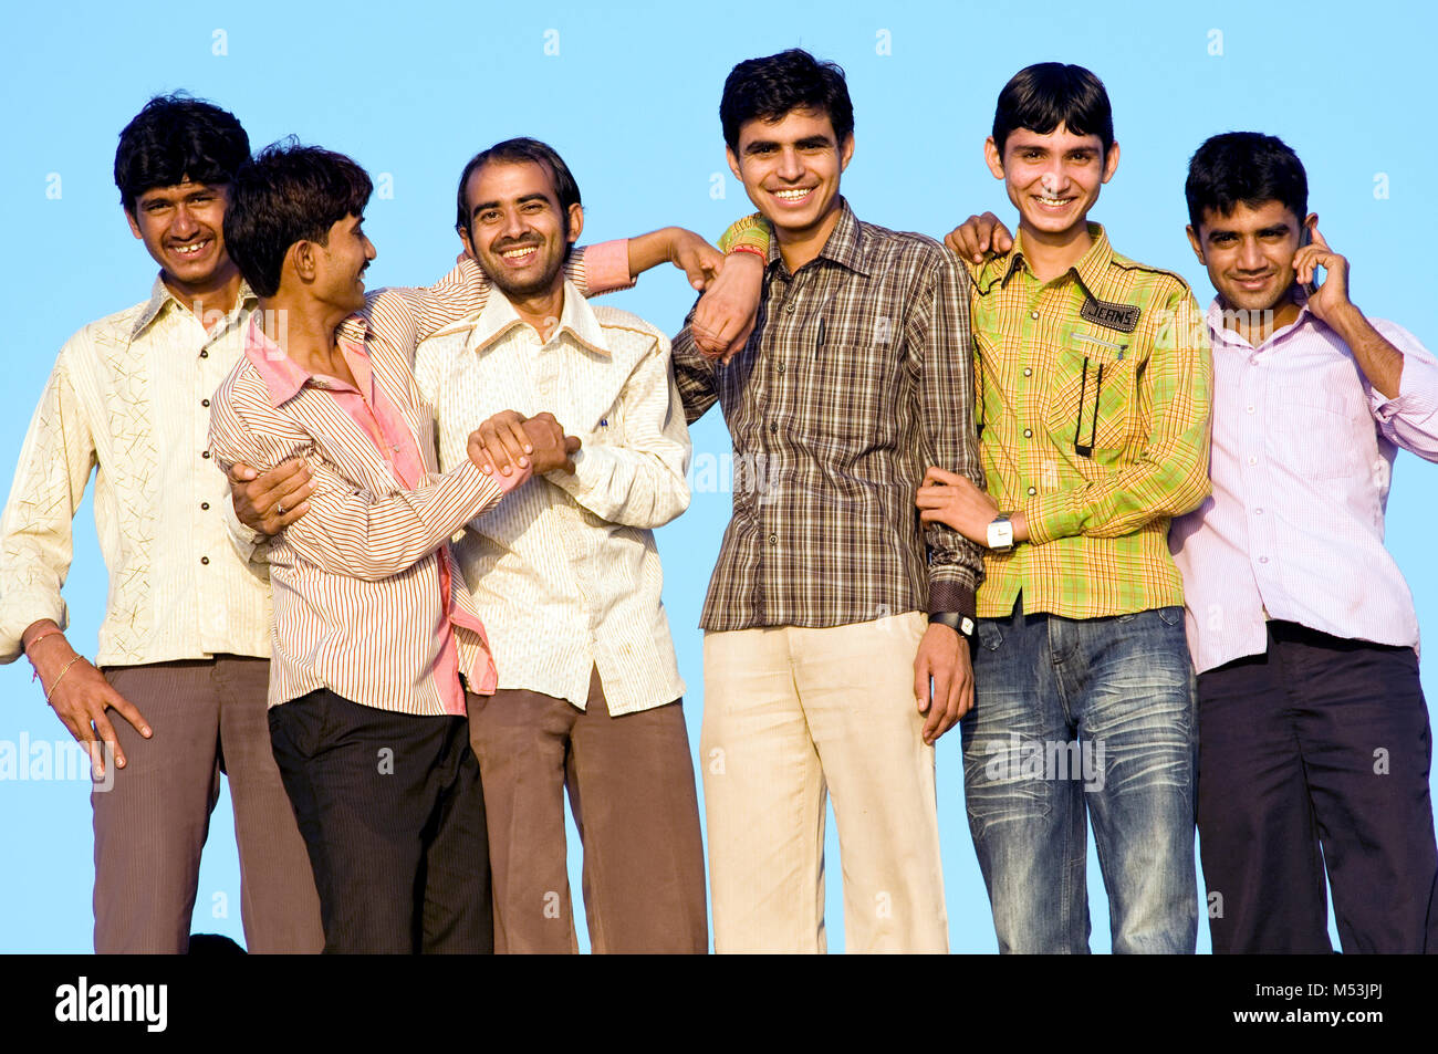
<svg viewBox="0 0 1438 1054">
<path fill-rule="evenodd" d="M 824 950 L 831 788 L 848 949 L 943 952 L 933 742 L 972 705 L 982 556 L 913 495 L 928 464 L 984 485 L 966 278 L 840 196 L 838 66 L 741 62 L 720 119 L 775 237 L 731 257 L 764 267 L 742 349 L 702 349 L 703 303 L 673 344 L 689 420 L 719 403 L 742 469 L 700 620 L 715 949 Z"/>
</svg>

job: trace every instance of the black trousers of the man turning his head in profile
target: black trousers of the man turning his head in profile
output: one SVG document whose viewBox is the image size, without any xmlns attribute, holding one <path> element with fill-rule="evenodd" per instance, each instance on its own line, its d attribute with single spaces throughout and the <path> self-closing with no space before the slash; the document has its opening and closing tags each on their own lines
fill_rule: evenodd
<svg viewBox="0 0 1438 1054">
<path fill-rule="evenodd" d="M 319 690 L 272 707 L 269 725 L 315 871 L 325 952 L 493 952 L 469 722 Z"/>
</svg>

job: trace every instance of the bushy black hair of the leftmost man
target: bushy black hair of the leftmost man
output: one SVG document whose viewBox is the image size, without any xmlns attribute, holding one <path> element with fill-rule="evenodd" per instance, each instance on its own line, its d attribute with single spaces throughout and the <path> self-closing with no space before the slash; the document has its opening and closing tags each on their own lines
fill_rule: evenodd
<svg viewBox="0 0 1438 1054">
<path fill-rule="evenodd" d="M 115 185 L 134 214 L 135 201 L 155 187 L 224 184 L 250 158 L 250 137 L 227 109 L 184 93 L 157 95 L 119 134 Z"/>
</svg>

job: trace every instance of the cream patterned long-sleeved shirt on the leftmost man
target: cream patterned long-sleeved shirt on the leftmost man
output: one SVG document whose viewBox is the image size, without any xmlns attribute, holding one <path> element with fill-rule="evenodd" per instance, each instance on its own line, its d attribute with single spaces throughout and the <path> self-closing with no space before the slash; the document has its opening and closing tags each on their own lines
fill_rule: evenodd
<svg viewBox="0 0 1438 1054">
<path fill-rule="evenodd" d="M 230 541 L 230 489 L 209 456 L 210 394 L 243 354 L 255 296 L 206 329 L 157 278 L 151 296 L 72 336 L 30 421 L 0 521 L 0 661 L 60 587 L 91 472 L 109 569 L 101 666 L 269 656 L 269 577 Z M 161 456 L 161 452 L 164 456 Z"/>
</svg>

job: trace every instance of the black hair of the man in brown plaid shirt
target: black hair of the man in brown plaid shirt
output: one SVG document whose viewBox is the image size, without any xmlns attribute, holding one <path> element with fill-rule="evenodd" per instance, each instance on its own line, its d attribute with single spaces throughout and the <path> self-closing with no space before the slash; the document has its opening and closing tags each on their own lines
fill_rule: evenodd
<svg viewBox="0 0 1438 1054">
<path fill-rule="evenodd" d="M 739 129 L 749 121 L 778 121 L 792 109 L 828 115 L 838 144 L 854 134 L 854 104 L 844 69 L 820 62 L 801 47 L 764 59 L 745 59 L 729 70 L 719 101 L 719 124 L 729 150 L 739 150 Z"/>
</svg>

